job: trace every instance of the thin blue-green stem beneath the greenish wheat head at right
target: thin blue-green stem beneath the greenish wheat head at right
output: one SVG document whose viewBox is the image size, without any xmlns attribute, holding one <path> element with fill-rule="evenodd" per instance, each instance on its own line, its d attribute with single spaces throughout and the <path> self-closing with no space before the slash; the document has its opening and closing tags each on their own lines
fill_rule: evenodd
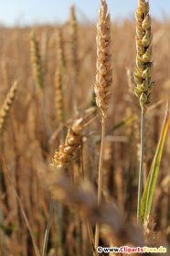
<svg viewBox="0 0 170 256">
<path fill-rule="evenodd" d="M 137 220 L 141 220 L 141 197 L 143 191 L 143 156 L 144 156 L 144 110 L 141 112 L 141 156 L 139 165 Z"/>
</svg>

